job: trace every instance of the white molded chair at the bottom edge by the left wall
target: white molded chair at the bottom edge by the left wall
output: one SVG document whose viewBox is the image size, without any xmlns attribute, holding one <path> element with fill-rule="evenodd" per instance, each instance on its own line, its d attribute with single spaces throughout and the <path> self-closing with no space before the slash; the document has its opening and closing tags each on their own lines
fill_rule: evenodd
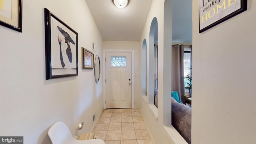
<svg viewBox="0 0 256 144">
<path fill-rule="evenodd" d="M 52 144 L 105 144 L 105 142 L 100 139 L 76 140 L 63 122 L 53 124 L 48 130 L 48 136 Z"/>
</svg>

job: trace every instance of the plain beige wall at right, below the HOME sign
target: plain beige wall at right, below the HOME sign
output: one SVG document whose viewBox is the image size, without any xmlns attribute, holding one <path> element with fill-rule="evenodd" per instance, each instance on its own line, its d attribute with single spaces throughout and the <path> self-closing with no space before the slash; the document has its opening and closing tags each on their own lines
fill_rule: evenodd
<svg viewBox="0 0 256 144">
<path fill-rule="evenodd" d="M 256 1 L 248 10 L 198 32 L 193 1 L 192 144 L 254 144 Z"/>
</svg>

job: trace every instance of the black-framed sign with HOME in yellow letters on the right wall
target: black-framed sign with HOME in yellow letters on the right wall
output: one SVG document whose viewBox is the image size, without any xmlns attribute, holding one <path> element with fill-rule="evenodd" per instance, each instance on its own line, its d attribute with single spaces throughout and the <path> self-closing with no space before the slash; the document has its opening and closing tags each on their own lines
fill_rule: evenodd
<svg viewBox="0 0 256 144">
<path fill-rule="evenodd" d="M 223 5 L 224 3 L 225 5 Z M 211 2 L 208 2 L 208 0 L 199 0 L 199 33 L 204 32 L 246 10 L 247 0 L 212 0 Z M 207 20 L 210 21 L 206 22 Z M 203 24 L 204 22 L 206 23 Z"/>
</svg>

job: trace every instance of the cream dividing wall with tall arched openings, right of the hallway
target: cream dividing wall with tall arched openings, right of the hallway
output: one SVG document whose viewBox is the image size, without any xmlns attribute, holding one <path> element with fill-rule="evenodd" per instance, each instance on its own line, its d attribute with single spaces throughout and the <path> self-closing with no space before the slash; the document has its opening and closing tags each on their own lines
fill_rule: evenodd
<svg viewBox="0 0 256 144">
<path fill-rule="evenodd" d="M 172 16 L 172 14 L 171 14 L 172 0 L 167 0 L 167 1 L 168 1 L 167 3 L 170 5 L 168 7 L 168 10 L 167 9 L 166 10 L 168 11 L 168 17 L 171 18 L 171 16 Z M 166 88 L 166 86 L 171 88 L 171 86 L 170 86 L 170 82 L 171 82 L 171 80 L 170 80 L 170 55 L 171 55 L 171 52 L 170 52 L 171 30 L 170 30 L 170 28 L 171 28 L 171 22 L 170 22 L 170 19 L 167 18 L 166 24 L 168 23 L 169 25 L 167 27 L 164 27 L 164 4 L 165 4 L 164 0 L 153 0 L 152 1 L 150 12 L 148 14 L 148 18 L 146 20 L 144 30 L 142 32 L 142 36 L 140 39 L 140 52 L 141 53 L 142 53 L 143 40 L 146 39 L 146 42 L 147 42 L 147 80 L 148 80 L 147 96 L 146 97 L 141 96 L 140 110 L 141 110 L 144 120 L 148 126 L 148 129 L 150 130 L 150 135 L 152 136 L 155 144 L 170 144 L 170 141 L 164 134 L 164 127 L 163 127 L 163 125 L 165 123 L 164 107 L 166 107 L 166 109 L 168 109 L 168 112 L 166 113 L 167 115 L 170 114 L 170 110 L 171 110 L 170 105 L 169 106 L 167 106 L 166 104 L 164 105 L 164 103 L 168 103 L 169 102 L 168 100 L 170 100 L 170 99 L 166 99 L 164 101 L 164 97 L 167 96 L 168 98 L 170 98 L 170 92 L 171 92 L 171 90 L 168 91 L 168 89 Z M 154 72 L 154 60 L 152 61 L 150 58 L 150 56 L 152 56 L 152 58 L 154 58 L 154 56 L 151 54 L 151 53 L 154 53 L 154 48 L 153 49 L 152 49 L 152 47 L 150 48 L 150 46 L 154 47 L 154 41 L 152 42 L 152 35 L 150 36 L 151 22 L 154 17 L 156 17 L 157 23 L 158 23 L 158 109 L 152 109 L 153 111 L 156 110 L 153 112 L 153 111 L 151 111 L 151 108 L 149 107 L 148 104 L 152 104 L 153 100 L 150 100 L 150 98 L 152 99 L 153 91 L 154 91 L 154 88 L 152 87 L 152 82 L 154 82 L 153 81 L 154 77 L 153 77 L 153 73 L 150 72 L 150 70 L 152 70 Z M 169 28 L 169 29 L 166 30 L 165 28 Z M 165 35 L 166 34 L 164 32 L 165 30 L 166 30 L 166 32 L 168 32 L 168 35 Z M 164 36 L 166 36 L 166 38 L 168 40 L 164 39 Z M 151 41 L 150 41 L 150 39 L 151 39 Z M 141 56 L 141 61 L 142 61 L 142 56 Z M 169 65 L 166 67 L 167 63 Z M 169 76 L 166 76 L 166 72 L 169 74 Z M 154 83 L 153 83 L 153 85 L 154 85 Z M 169 94 L 167 94 L 166 92 Z M 154 116 L 154 114 L 152 114 L 152 113 L 156 114 L 155 116 L 157 117 L 157 119 Z M 166 118 L 166 119 L 168 119 L 168 118 Z M 171 123 L 170 119 L 169 119 L 168 123 L 169 123 L 168 125 L 170 126 L 170 123 Z"/>
</svg>

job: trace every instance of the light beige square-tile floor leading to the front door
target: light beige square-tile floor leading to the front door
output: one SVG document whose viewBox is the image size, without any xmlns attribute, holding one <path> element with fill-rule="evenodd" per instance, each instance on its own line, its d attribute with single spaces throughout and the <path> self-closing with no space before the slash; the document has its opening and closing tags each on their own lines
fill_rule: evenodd
<svg viewBox="0 0 256 144">
<path fill-rule="evenodd" d="M 106 109 L 93 132 L 106 144 L 152 144 L 139 109 Z"/>
</svg>

